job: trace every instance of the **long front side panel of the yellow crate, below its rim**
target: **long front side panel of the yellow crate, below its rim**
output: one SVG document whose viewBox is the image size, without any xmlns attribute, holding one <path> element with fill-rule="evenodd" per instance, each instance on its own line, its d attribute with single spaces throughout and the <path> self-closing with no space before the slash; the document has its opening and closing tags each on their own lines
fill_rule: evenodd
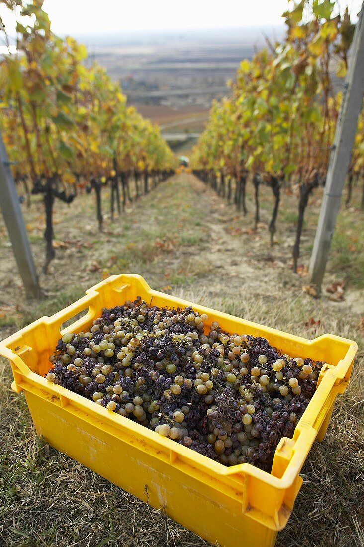
<svg viewBox="0 0 364 547">
<path fill-rule="evenodd" d="M 211 543 L 271 547 L 276 532 L 242 513 L 239 501 L 201 486 L 187 473 L 167 465 L 107 432 L 100 432 L 66 408 L 25 392 L 37 433 L 55 449 L 134 494 Z"/>
</svg>

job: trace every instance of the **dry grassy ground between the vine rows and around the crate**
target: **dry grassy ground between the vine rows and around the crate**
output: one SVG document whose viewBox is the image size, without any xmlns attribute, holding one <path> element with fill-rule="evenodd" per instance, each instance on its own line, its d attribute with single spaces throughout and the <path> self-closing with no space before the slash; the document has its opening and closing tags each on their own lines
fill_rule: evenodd
<svg viewBox="0 0 364 547">
<path fill-rule="evenodd" d="M 102 278 L 121 273 L 140 274 L 154 289 L 293 334 L 313 338 L 331 332 L 355 339 L 360 349 L 350 386 L 338 398 L 325 440 L 315 443 L 304 465 L 304 484 L 277 545 L 364 545 L 360 191 L 356 188 L 350 208 L 340 211 L 321 299 L 302 290 L 307 285 L 320 192 L 307 211 L 299 275 L 291 269 L 296 197 L 282 196 L 276 243 L 270 247 L 269 189 L 261 191 L 257 232 L 252 229 L 252 189 L 247 193 L 244 218 L 192 174 L 182 173 L 129 205 L 112 222 L 105 191 L 103 234 L 95 220 L 94 195 L 78 196 L 71 206 L 57 203 L 56 258 L 49 274 L 40 275 L 48 298 L 38 302 L 24 299 L 7 232 L 0 223 L 0 339 L 62 309 Z M 43 204 L 33 197 L 30 209 L 23 208 L 41 272 Z M 342 281 L 344 300 L 330 300 L 326 287 Z M 39 441 L 24 397 L 12 393 L 10 383 L 9 365 L 0 360 L 0 545 L 206 544 L 160 511 Z"/>
</svg>

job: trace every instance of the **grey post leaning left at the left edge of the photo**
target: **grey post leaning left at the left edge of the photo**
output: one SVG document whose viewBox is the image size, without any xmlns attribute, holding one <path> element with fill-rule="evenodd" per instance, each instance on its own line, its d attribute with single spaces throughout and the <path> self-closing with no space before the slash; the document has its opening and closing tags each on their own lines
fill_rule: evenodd
<svg viewBox="0 0 364 547">
<path fill-rule="evenodd" d="M 4 216 L 5 224 L 9 232 L 11 245 L 18 264 L 25 293 L 28 298 L 39 298 L 41 288 L 39 287 L 36 266 L 26 232 L 24 218 L 19 203 L 19 196 L 16 192 L 13 174 L 10 170 L 8 155 L 0 134 L 0 206 Z"/>
</svg>

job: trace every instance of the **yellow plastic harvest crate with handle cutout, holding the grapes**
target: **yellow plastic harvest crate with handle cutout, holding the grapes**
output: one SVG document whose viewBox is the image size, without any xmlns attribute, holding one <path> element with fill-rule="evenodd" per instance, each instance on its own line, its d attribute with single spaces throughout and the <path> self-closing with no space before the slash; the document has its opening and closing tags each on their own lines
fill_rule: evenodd
<svg viewBox="0 0 364 547">
<path fill-rule="evenodd" d="M 86 330 L 103 307 L 141 296 L 153 305 L 192 305 L 228 332 L 264 336 L 293 356 L 322 360 L 316 392 L 294 431 L 276 449 L 271 474 L 248 463 L 224 467 L 141 424 L 109 412 L 76 393 L 47 382 L 48 357 L 60 335 Z M 62 324 L 80 312 L 72 325 Z M 270 547 L 290 517 L 302 479 L 299 472 L 314 442 L 325 435 L 338 393 L 348 385 L 357 345 L 325 334 L 315 340 L 244 321 L 152 290 L 142 277 L 120 275 L 86 291 L 86 296 L 52 317 L 43 317 L 0 342 L 13 369 L 15 392 L 23 391 L 37 433 L 57 450 L 211 543 Z M 122 471 L 123 470 L 123 471 Z"/>
</svg>

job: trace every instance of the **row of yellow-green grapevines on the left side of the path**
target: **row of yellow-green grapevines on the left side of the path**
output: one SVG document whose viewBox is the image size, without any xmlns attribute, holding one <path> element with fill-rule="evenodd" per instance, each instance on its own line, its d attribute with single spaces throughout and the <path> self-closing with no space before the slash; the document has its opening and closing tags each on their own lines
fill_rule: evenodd
<svg viewBox="0 0 364 547">
<path fill-rule="evenodd" d="M 146 185 L 165 178 L 174 156 L 159 129 L 126 106 L 118 83 L 95 63 L 87 68 L 86 49 L 50 30 L 43 0 L 4 0 L 16 18 L 16 53 L 0 18 L 8 54 L 0 59 L 0 127 L 15 180 L 42 194 L 46 217 L 47 271 L 54 257 L 53 208 L 70 203 L 84 188 L 95 189 L 102 229 L 101 192 L 111 186 L 111 216 L 132 200 L 130 174 L 142 170 Z M 137 187 L 137 183 L 136 183 Z M 28 191 L 27 191 L 28 194 Z M 139 191 L 136 191 L 138 197 Z"/>
</svg>

